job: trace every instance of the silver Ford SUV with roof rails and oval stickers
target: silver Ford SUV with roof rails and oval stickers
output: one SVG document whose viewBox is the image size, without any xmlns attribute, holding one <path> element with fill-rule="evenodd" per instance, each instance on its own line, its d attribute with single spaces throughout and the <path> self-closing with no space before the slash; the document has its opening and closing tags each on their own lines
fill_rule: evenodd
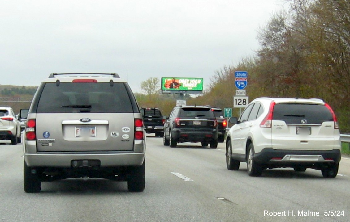
<svg viewBox="0 0 350 222">
<path fill-rule="evenodd" d="M 142 115 L 118 74 L 51 74 L 34 95 L 23 139 L 27 193 L 40 192 L 43 181 L 81 177 L 145 188 Z"/>
</svg>

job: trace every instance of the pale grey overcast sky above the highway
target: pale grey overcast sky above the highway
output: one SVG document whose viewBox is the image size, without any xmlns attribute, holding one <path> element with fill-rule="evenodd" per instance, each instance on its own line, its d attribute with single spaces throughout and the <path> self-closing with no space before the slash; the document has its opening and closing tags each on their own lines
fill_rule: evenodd
<svg viewBox="0 0 350 222">
<path fill-rule="evenodd" d="M 258 49 L 281 0 L 1 0 L 0 84 L 50 73 L 118 73 L 134 92 L 150 77 L 204 78 Z"/>
</svg>

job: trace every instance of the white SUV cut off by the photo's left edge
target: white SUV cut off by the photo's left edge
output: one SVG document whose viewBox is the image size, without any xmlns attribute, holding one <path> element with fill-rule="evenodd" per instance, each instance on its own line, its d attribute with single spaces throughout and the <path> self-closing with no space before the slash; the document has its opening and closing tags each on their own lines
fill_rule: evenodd
<svg viewBox="0 0 350 222">
<path fill-rule="evenodd" d="M 13 109 L 0 107 L 0 140 L 11 140 L 12 145 L 21 142 L 21 125 Z"/>
</svg>

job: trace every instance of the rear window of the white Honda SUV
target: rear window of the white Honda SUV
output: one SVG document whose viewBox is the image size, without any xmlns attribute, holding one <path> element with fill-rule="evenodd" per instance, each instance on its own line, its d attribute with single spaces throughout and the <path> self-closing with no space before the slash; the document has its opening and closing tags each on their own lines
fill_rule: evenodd
<svg viewBox="0 0 350 222">
<path fill-rule="evenodd" d="M 315 104 L 276 104 L 273 108 L 274 120 L 283 120 L 286 124 L 322 124 L 333 121 L 333 116 L 324 105 Z"/>
</svg>

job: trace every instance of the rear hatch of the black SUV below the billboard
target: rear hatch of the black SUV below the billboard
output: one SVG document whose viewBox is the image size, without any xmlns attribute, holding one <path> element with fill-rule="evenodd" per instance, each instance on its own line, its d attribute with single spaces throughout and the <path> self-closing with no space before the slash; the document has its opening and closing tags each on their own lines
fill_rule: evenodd
<svg viewBox="0 0 350 222">
<path fill-rule="evenodd" d="M 183 131 L 208 132 L 216 128 L 217 123 L 210 108 L 182 108 L 177 124 Z"/>
</svg>

